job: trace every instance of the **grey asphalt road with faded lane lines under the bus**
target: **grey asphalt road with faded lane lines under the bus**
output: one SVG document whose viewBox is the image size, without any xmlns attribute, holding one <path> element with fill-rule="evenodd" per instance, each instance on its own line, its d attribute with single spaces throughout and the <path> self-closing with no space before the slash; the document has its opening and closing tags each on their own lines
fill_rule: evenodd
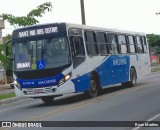
<svg viewBox="0 0 160 130">
<path fill-rule="evenodd" d="M 24 99 L 0 106 L 0 121 L 159 121 L 160 120 L 160 73 L 138 81 L 136 87 L 115 86 L 107 88 L 94 99 L 84 95 L 56 99 L 54 105 L 47 106 L 39 99 Z M 93 123 L 93 122 L 92 122 Z M 0 128 L 11 129 L 11 128 Z M 13 129 L 13 128 L 12 128 Z M 16 130 L 16 128 L 14 128 Z M 39 128 L 37 128 L 39 129 Z M 91 129 L 45 128 L 45 129 Z M 94 127 L 99 129 L 143 130 L 155 128 L 136 127 Z"/>
</svg>

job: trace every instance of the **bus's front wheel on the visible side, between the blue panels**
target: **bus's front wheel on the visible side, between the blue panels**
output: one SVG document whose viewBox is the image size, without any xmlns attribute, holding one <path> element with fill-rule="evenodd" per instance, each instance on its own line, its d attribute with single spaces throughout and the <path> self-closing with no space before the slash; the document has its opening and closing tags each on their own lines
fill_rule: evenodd
<svg viewBox="0 0 160 130">
<path fill-rule="evenodd" d="M 94 79 L 90 80 L 89 90 L 87 92 L 85 92 L 85 94 L 89 98 L 97 97 L 97 95 L 98 95 L 98 83 L 96 82 L 96 80 L 94 80 Z"/>
</svg>

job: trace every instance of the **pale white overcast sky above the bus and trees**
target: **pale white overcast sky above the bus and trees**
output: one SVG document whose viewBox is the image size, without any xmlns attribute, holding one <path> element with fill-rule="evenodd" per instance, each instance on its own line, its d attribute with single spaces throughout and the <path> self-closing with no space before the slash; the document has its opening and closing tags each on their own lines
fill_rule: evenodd
<svg viewBox="0 0 160 130">
<path fill-rule="evenodd" d="M 69 22 L 81 24 L 80 0 L 0 0 L 0 14 L 25 16 L 32 9 L 51 2 L 52 12 L 38 18 L 40 24 Z M 84 0 L 86 25 L 160 34 L 160 0 Z M 14 27 L 5 22 L 2 35 Z"/>
</svg>

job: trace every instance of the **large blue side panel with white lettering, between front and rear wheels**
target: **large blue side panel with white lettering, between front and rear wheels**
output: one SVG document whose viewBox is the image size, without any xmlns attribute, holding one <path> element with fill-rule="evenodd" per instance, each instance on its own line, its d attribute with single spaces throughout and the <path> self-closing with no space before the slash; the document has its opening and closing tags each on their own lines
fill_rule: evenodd
<svg viewBox="0 0 160 130">
<path fill-rule="evenodd" d="M 99 74 L 101 87 L 129 81 L 129 55 L 112 55 L 108 57 L 96 72 Z"/>
</svg>

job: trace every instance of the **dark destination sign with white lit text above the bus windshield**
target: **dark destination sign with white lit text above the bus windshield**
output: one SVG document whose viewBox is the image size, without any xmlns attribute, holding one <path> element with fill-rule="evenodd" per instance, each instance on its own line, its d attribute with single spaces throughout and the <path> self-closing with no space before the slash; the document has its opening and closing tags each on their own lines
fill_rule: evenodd
<svg viewBox="0 0 160 130">
<path fill-rule="evenodd" d="M 23 40 L 35 40 L 39 38 L 64 37 L 67 35 L 65 23 L 39 24 L 19 28 L 12 33 L 12 43 L 24 42 Z"/>
</svg>

